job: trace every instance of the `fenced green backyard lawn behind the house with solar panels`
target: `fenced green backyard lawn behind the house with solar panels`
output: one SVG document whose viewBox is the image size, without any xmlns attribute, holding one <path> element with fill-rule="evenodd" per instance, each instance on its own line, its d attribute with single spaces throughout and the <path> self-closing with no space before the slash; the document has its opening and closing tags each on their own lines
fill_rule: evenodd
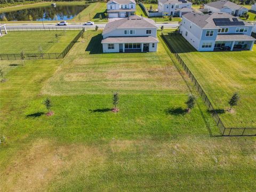
<svg viewBox="0 0 256 192">
<path fill-rule="evenodd" d="M 228 127 L 256 126 L 256 46 L 252 51 L 197 52 L 182 36 L 167 36 Z M 234 112 L 228 101 L 240 97 Z"/>
</svg>

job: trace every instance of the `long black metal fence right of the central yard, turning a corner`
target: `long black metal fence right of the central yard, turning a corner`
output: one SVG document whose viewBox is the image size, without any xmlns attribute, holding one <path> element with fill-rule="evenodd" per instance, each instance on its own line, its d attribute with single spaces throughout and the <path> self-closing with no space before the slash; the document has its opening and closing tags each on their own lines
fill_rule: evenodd
<svg viewBox="0 0 256 192">
<path fill-rule="evenodd" d="M 171 35 L 171 36 L 178 35 L 178 33 L 173 32 L 173 33 L 169 33 L 168 35 Z M 196 87 L 197 92 L 199 93 L 202 100 L 204 101 L 206 107 L 209 110 L 209 113 L 211 113 L 211 116 L 214 119 L 215 123 L 217 124 L 222 136 L 256 136 L 256 127 L 225 127 L 217 111 L 213 108 L 211 101 L 209 100 L 204 90 L 202 89 L 202 86 L 198 83 L 197 79 L 195 78 L 193 73 L 190 71 L 186 63 L 181 59 L 180 55 L 177 53 L 177 51 L 175 51 L 174 47 L 171 45 L 171 43 L 168 41 L 165 35 L 162 33 L 161 36 L 163 37 L 165 43 L 169 46 L 171 52 L 175 55 L 175 57 L 181 64 L 182 68 L 185 70 L 191 82 Z"/>
</svg>

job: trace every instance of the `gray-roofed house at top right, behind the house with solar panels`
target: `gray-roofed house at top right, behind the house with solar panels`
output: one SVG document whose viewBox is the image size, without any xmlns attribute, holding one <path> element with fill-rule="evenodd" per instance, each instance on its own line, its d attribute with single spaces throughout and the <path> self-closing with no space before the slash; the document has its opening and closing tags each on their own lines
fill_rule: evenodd
<svg viewBox="0 0 256 192">
<path fill-rule="evenodd" d="M 246 9 L 245 7 L 242 7 L 240 5 L 237 5 L 235 3 L 232 3 L 226 0 L 207 3 L 204 5 L 204 9 L 212 13 L 224 12 L 224 13 L 229 13 L 235 16 L 241 16 L 248 12 L 248 9 Z"/>
</svg>

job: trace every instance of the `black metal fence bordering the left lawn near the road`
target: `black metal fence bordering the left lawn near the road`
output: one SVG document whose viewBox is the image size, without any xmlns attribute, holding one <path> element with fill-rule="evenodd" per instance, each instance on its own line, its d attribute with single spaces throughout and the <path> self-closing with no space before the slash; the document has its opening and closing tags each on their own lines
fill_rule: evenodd
<svg viewBox="0 0 256 192">
<path fill-rule="evenodd" d="M 84 33 L 81 30 L 76 37 L 68 44 L 68 46 L 61 53 L 24 53 L 20 54 L 0 54 L 1 60 L 37 60 L 37 59 L 63 59 L 69 50 L 73 47 L 73 45 L 77 42 L 77 40 Z"/>
</svg>

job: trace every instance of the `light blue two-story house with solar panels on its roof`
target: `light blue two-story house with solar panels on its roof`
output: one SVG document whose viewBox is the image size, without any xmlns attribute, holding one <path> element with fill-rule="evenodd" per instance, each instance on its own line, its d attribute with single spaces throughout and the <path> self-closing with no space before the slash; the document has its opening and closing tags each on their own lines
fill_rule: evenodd
<svg viewBox="0 0 256 192">
<path fill-rule="evenodd" d="M 182 16 L 180 34 L 197 51 L 252 50 L 253 25 L 228 13 L 187 13 Z"/>
</svg>

